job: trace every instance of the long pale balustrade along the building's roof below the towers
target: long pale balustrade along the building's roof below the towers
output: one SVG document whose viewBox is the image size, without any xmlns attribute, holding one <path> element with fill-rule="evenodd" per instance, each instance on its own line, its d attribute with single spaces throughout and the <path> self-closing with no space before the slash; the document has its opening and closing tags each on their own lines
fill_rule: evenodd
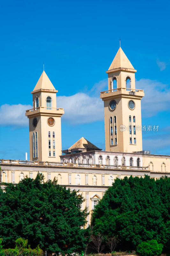
<svg viewBox="0 0 170 256">
<path fill-rule="evenodd" d="M 114 170 L 137 170 L 137 171 L 149 171 L 148 166 L 124 166 L 124 165 L 107 165 L 107 164 L 78 164 L 78 163 L 63 163 L 63 162 L 39 162 L 39 161 L 25 161 L 25 160 L 8 160 L 0 159 L 0 164 L 12 164 L 12 165 L 39 165 L 39 166 L 63 166 L 72 168 L 102 168 L 102 169 L 114 169 Z"/>
</svg>

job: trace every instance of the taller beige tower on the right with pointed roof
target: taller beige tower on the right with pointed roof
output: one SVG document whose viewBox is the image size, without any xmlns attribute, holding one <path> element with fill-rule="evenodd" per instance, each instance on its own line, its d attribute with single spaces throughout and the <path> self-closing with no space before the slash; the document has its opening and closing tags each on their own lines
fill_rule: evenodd
<svg viewBox="0 0 170 256">
<path fill-rule="evenodd" d="M 143 90 L 135 88 L 135 72 L 121 47 L 108 71 L 108 91 L 104 100 L 106 151 L 142 150 L 141 99 Z"/>
</svg>

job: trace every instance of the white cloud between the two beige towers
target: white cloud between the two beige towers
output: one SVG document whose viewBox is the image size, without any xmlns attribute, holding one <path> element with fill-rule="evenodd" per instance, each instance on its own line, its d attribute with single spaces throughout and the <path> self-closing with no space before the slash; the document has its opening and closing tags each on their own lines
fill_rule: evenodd
<svg viewBox="0 0 170 256">
<path fill-rule="evenodd" d="M 82 92 L 58 96 L 57 106 L 64 108 L 62 120 L 72 125 L 104 120 L 104 106 L 100 97 L 90 97 Z"/>
</svg>

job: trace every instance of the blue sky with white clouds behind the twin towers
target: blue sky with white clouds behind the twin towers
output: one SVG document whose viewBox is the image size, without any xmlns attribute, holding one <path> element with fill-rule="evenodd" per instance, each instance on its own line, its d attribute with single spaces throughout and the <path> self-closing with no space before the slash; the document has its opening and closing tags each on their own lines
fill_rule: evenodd
<svg viewBox="0 0 170 256">
<path fill-rule="evenodd" d="M 82 136 L 105 149 L 100 91 L 121 47 L 144 89 L 143 149 L 170 154 L 170 33 L 168 1 L 1 1 L 0 159 L 29 152 L 25 110 L 43 71 L 64 108 L 62 149 Z M 7 104 L 7 105 L 6 105 Z"/>
</svg>

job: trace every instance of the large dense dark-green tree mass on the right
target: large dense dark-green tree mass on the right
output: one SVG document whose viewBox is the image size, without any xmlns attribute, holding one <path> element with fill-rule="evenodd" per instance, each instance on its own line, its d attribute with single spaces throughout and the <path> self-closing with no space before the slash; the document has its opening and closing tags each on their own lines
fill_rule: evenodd
<svg viewBox="0 0 170 256">
<path fill-rule="evenodd" d="M 170 178 L 125 177 L 109 187 L 92 215 L 93 234 L 118 236 L 121 250 L 155 239 L 170 248 Z"/>
</svg>

